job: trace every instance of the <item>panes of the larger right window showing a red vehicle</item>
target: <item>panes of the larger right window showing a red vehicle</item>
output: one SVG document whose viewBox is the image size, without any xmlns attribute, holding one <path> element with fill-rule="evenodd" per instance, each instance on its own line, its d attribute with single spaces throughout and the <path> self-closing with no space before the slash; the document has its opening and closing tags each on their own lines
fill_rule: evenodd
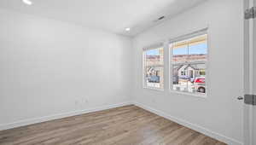
<svg viewBox="0 0 256 145">
<path fill-rule="evenodd" d="M 207 34 L 193 34 L 172 42 L 171 89 L 195 94 L 206 94 Z"/>
</svg>

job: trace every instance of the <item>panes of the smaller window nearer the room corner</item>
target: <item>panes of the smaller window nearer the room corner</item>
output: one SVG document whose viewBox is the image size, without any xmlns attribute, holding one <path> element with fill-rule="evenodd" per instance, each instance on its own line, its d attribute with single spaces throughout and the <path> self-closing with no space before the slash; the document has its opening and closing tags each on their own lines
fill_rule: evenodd
<svg viewBox="0 0 256 145">
<path fill-rule="evenodd" d="M 164 48 L 143 50 L 144 87 L 164 89 Z"/>
</svg>

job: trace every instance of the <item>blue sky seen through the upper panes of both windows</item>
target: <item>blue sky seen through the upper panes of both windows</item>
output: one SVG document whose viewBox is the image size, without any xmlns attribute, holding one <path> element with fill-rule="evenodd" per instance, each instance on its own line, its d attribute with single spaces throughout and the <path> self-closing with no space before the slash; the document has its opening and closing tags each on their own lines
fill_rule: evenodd
<svg viewBox="0 0 256 145">
<path fill-rule="evenodd" d="M 188 49 L 177 48 L 173 49 L 173 55 L 187 55 Z M 189 46 L 189 55 L 199 55 L 199 54 L 207 54 L 207 44 L 196 44 Z M 146 55 L 160 55 L 159 49 L 150 49 L 146 52 Z"/>
</svg>

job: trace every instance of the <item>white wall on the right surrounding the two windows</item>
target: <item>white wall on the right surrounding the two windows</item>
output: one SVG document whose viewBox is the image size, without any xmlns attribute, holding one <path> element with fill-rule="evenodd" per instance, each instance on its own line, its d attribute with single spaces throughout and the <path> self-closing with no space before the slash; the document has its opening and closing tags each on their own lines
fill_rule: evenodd
<svg viewBox="0 0 256 145">
<path fill-rule="evenodd" d="M 208 0 L 134 38 L 134 93 L 138 105 L 230 144 L 241 144 L 243 92 L 243 2 Z M 142 50 L 151 44 L 208 27 L 207 98 L 143 89 Z M 168 54 L 166 53 L 166 61 Z"/>
</svg>

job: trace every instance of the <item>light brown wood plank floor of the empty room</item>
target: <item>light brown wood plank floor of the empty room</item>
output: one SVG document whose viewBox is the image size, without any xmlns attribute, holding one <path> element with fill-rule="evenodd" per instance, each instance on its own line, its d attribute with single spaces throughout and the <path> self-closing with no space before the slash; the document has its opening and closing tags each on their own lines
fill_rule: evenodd
<svg viewBox="0 0 256 145">
<path fill-rule="evenodd" d="M 0 131 L 0 144 L 224 145 L 133 105 Z"/>
</svg>

